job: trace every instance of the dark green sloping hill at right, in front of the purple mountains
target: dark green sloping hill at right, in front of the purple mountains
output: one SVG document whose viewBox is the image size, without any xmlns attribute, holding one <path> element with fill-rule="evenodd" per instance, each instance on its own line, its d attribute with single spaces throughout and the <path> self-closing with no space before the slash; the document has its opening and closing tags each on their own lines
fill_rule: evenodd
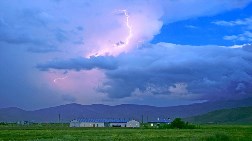
<svg viewBox="0 0 252 141">
<path fill-rule="evenodd" d="M 193 123 L 252 124 L 252 106 L 216 110 L 185 120 Z"/>
</svg>

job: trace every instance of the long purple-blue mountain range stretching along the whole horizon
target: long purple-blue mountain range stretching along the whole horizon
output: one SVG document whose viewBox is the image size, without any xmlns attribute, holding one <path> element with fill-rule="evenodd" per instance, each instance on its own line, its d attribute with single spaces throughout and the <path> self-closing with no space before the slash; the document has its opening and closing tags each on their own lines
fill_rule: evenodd
<svg viewBox="0 0 252 141">
<path fill-rule="evenodd" d="M 0 109 L 0 122 L 16 122 L 20 120 L 29 120 L 34 122 L 58 122 L 59 114 L 61 122 L 69 122 L 76 118 L 134 118 L 139 121 L 143 118 L 144 121 L 147 121 L 156 118 L 173 119 L 175 117 L 191 117 L 218 109 L 244 106 L 252 106 L 252 98 L 233 101 L 205 102 L 172 107 L 155 107 L 134 104 L 123 104 L 117 106 L 102 104 L 67 104 L 35 111 L 26 111 L 12 107 Z"/>
</svg>

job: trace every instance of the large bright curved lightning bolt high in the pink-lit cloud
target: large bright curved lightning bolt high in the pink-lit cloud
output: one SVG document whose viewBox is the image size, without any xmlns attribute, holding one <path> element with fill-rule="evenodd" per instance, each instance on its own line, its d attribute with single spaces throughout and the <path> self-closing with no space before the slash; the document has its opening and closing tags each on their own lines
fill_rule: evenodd
<svg viewBox="0 0 252 141">
<path fill-rule="evenodd" d="M 119 12 L 122 12 L 124 14 L 124 16 L 126 17 L 126 27 L 128 28 L 128 36 L 126 37 L 125 39 L 125 42 L 118 42 L 115 44 L 115 46 L 117 47 L 125 47 L 129 44 L 130 42 L 130 39 L 132 38 L 133 34 L 132 34 L 132 26 L 130 25 L 129 23 L 129 19 L 130 19 L 130 16 L 129 16 L 129 13 L 127 10 L 118 10 Z"/>
</svg>

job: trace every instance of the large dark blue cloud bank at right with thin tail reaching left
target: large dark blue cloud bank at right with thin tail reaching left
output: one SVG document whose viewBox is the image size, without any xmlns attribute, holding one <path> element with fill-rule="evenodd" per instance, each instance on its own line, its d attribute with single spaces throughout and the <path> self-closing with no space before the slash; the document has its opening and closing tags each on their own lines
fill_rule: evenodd
<svg viewBox="0 0 252 141">
<path fill-rule="evenodd" d="M 160 43 L 115 58 L 76 58 L 38 68 L 105 69 L 108 81 L 98 91 L 110 98 L 130 97 L 139 89 L 154 95 L 200 94 L 199 99 L 232 99 L 252 96 L 250 48 Z"/>
</svg>

